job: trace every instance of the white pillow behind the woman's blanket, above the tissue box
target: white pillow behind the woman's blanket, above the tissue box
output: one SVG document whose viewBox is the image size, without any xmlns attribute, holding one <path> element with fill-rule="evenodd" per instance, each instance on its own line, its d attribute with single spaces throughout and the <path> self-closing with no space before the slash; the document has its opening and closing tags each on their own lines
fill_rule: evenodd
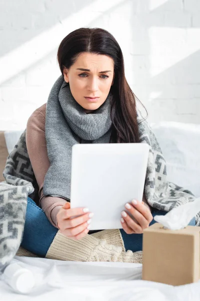
<svg viewBox="0 0 200 301">
<path fill-rule="evenodd" d="M 166 160 L 168 181 L 200 196 L 200 124 L 150 124 Z"/>
</svg>

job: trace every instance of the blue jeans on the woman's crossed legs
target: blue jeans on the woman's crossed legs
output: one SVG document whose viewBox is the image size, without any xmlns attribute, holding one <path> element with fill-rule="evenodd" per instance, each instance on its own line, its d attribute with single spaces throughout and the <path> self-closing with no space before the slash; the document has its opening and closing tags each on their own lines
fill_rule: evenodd
<svg viewBox="0 0 200 301">
<path fill-rule="evenodd" d="M 166 212 L 152 208 L 151 214 L 152 216 L 164 215 Z M 152 220 L 149 225 L 154 223 L 155 221 Z M 195 218 L 190 221 L 189 225 L 195 226 Z M 28 197 L 21 246 L 30 252 L 45 257 L 57 231 L 58 229 L 51 225 L 44 211 Z M 142 234 L 126 234 L 123 229 L 120 229 L 120 232 L 126 251 L 142 250 Z"/>
</svg>

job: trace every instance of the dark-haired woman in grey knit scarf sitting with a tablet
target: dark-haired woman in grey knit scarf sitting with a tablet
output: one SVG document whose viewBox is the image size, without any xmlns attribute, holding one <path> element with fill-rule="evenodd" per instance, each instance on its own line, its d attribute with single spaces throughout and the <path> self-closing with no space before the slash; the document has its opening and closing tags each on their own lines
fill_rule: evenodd
<svg viewBox="0 0 200 301">
<path fill-rule="evenodd" d="M 103 142 L 139 142 L 134 94 L 125 79 L 121 49 L 112 35 L 98 28 L 75 30 L 62 40 L 57 59 L 62 76 L 51 91 L 47 107 L 45 103 L 36 109 L 26 127 L 26 146 L 40 199 L 37 206 L 28 198 L 21 246 L 40 256 L 46 255 L 58 229 L 73 240 L 91 233 L 92 212 L 87 208 L 70 209 L 68 202 L 71 146 L 98 139 Z M 54 95 L 59 99 L 59 108 L 54 105 Z M 98 120 L 96 126 L 98 115 L 105 118 Z M 83 127 L 78 124 L 80 118 L 83 118 Z M 90 130 L 87 125 L 91 125 Z M 58 132 L 61 138 L 57 142 Z M 65 161 L 60 162 L 65 153 L 68 160 L 63 168 Z M 60 160 L 57 160 L 59 156 Z M 69 180 L 63 188 L 68 190 L 68 197 L 62 193 L 60 184 L 64 177 Z M 43 189 L 45 182 L 48 192 Z M 125 211 L 131 213 L 134 220 Z M 165 212 L 150 208 L 145 194 L 142 203 L 132 200 L 125 205 L 120 230 L 125 250 L 136 252 L 142 249 L 143 230 L 158 214 Z M 74 217 L 77 215 L 80 216 Z M 195 225 L 195 219 L 190 224 Z"/>
</svg>

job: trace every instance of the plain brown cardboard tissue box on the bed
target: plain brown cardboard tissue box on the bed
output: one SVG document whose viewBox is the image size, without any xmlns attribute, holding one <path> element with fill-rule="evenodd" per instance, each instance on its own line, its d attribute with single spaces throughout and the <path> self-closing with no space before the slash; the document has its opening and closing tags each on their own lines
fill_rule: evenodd
<svg viewBox="0 0 200 301">
<path fill-rule="evenodd" d="M 155 223 L 143 232 L 142 279 L 171 285 L 199 279 L 200 227 L 164 229 Z"/>
</svg>

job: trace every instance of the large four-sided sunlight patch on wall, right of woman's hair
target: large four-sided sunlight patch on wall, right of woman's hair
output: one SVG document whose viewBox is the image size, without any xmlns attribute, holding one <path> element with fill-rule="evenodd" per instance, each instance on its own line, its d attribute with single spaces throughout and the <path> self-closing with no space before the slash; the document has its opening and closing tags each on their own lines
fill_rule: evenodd
<svg viewBox="0 0 200 301">
<path fill-rule="evenodd" d="M 200 49 L 200 29 L 149 28 L 150 76 L 184 60 Z M 171 43 L 174 41 L 174 43 Z M 186 70 L 185 70 L 186 72 Z"/>
</svg>

